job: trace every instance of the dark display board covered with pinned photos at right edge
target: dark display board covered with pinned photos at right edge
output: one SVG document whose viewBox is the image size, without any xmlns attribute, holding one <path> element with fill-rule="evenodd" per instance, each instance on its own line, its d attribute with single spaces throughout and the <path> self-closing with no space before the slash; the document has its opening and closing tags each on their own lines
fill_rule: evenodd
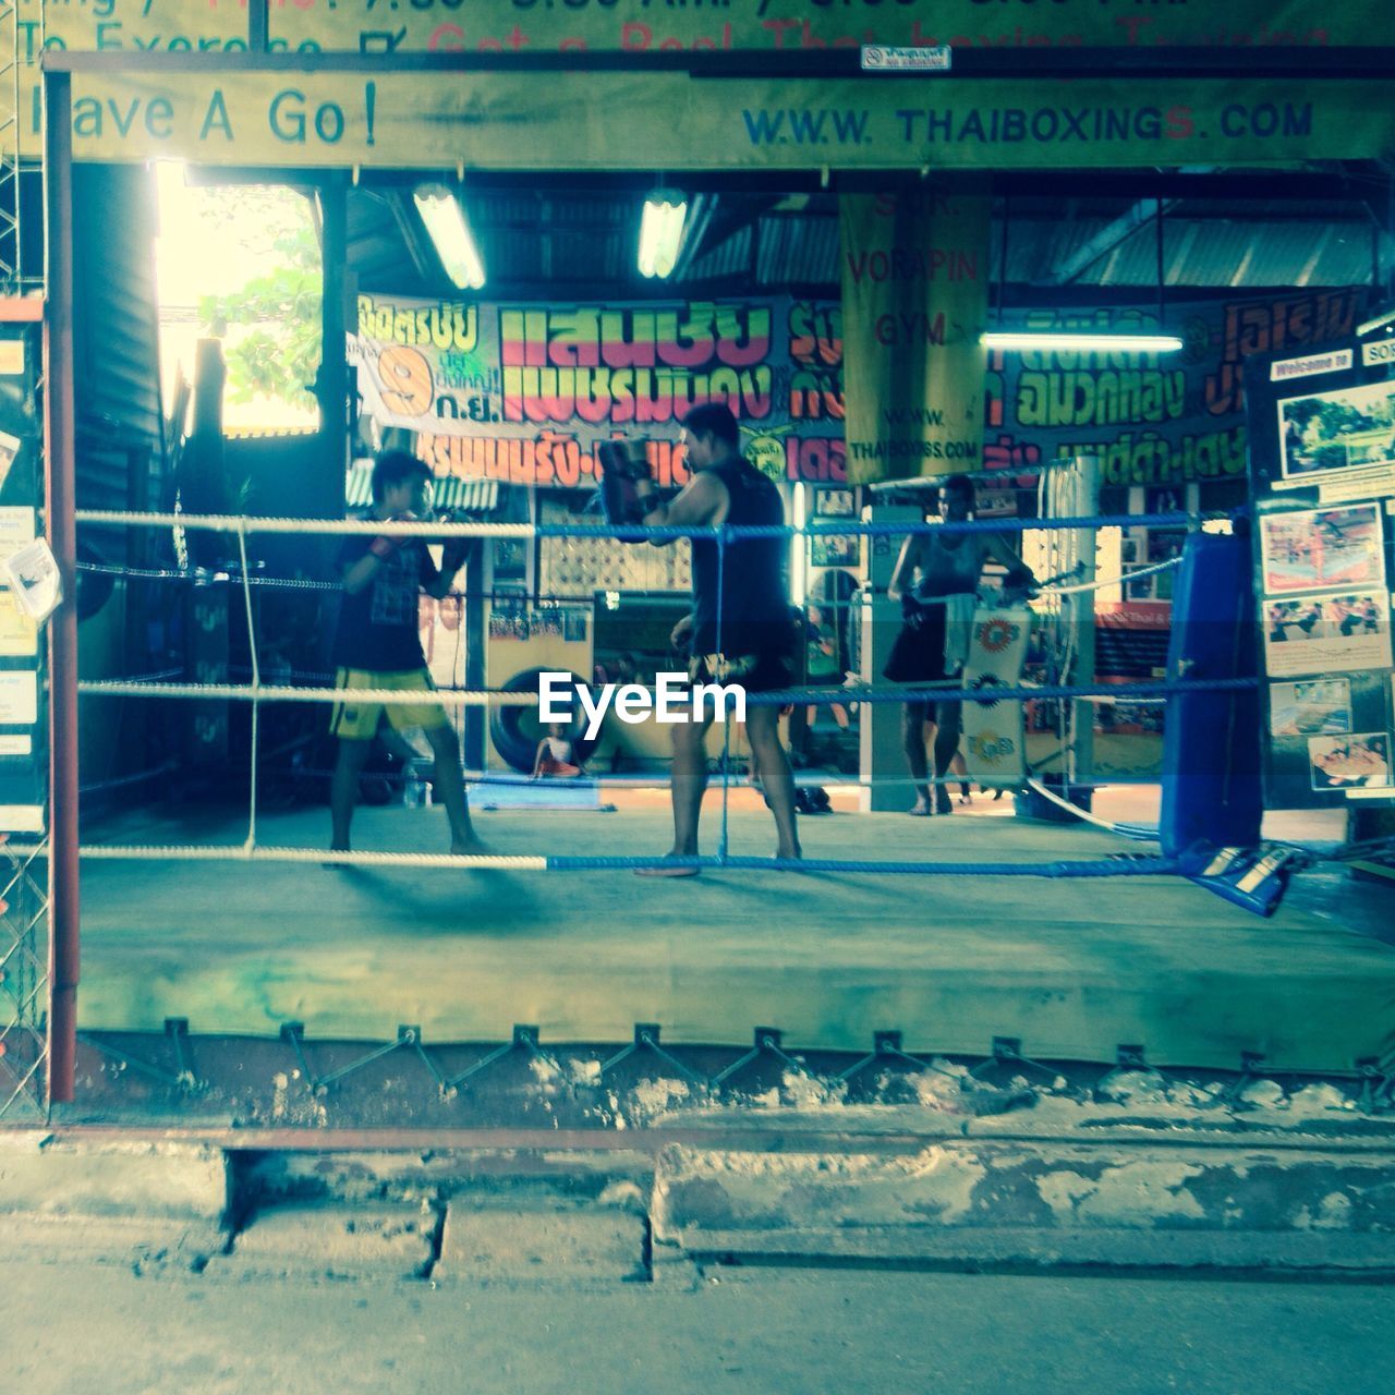
<svg viewBox="0 0 1395 1395">
<path fill-rule="evenodd" d="M 1395 342 L 1244 364 L 1265 804 L 1395 802 Z"/>
</svg>

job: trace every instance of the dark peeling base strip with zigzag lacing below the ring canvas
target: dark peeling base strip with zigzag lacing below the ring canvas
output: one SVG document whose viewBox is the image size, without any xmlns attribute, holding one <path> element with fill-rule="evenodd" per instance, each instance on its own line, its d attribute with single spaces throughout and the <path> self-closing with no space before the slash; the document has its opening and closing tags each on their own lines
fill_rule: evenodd
<svg viewBox="0 0 1395 1395">
<path fill-rule="evenodd" d="M 82 1032 L 78 1099 L 66 1120 L 177 1127 L 190 1117 L 233 1129 L 633 1129 L 663 1116 L 735 1105 L 925 1103 L 961 1120 L 1031 1108 L 1038 1099 L 1119 1099 L 1143 1073 L 1162 1098 L 1216 1124 L 1254 1117 L 1249 1087 L 1283 1096 L 1324 1084 L 1343 1103 L 1314 1133 L 1378 1127 L 1395 1110 L 1392 1080 L 1364 1063 L 1338 1074 L 1271 1070 L 1242 1052 L 1230 1070 L 1155 1066 L 1144 1043 L 1109 1043 L 1091 1062 L 1042 1059 L 1016 1035 L 993 1035 L 982 1053 L 907 1048 L 898 1028 L 864 1050 L 797 1046 L 777 1027 L 755 1027 L 751 1045 L 670 1042 L 658 1023 L 636 1023 L 628 1042 L 551 1042 L 515 1024 L 505 1042 L 427 1042 L 400 1024 L 386 1041 L 311 1039 L 301 1023 L 279 1038 L 195 1035 L 183 1017 L 163 1032 Z M 923 1038 L 922 1038 L 923 1041 Z M 1366 1117 L 1357 1122 L 1356 1115 Z M 771 1119 L 777 1119 L 771 1115 Z M 829 1127 L 843 1127 L 829 1115 Z M 1261 1115 L 1262 1117 L 1262 1115 Z M 307 1138 L 314 1137 L 307 1134 Z"/>
</svg>

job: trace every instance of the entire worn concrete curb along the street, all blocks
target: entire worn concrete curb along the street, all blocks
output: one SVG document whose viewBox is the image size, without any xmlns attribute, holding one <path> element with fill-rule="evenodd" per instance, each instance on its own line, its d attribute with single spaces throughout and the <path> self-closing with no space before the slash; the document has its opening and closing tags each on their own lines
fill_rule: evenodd
<svg viewBox="0 0 1395 1395">
<path fill-rule="evenodd" d="M 1387 1138 L 877 1136 L 820 1122 L 802 1133 L 739 1115 L 710 1141 L 661 1144 L 656 1130 L 439 1151 L 4 1133 L 0 1247 L 456 1282 L 633 1278 L 650 1240 L 656 1276 L 711 1256 L 1395 1272 Z"/>
</svg>

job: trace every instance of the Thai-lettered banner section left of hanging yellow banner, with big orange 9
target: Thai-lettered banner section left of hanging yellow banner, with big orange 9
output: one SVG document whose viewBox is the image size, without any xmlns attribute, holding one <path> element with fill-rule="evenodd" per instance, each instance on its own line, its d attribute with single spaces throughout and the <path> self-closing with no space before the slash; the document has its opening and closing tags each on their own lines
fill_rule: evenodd
<svg viewBox="0 0 1395 1395">
<path fill-rule="evenodd" d="M 682 418 L 731 407 L 773 478 L 847 478 L 841 317 L 788 297 L 589 306 L 359 297 L 349 360 L 364 409 L 417 432 L 439 476 L 576 487 L 596 448 L 654 442 L 661 484 L 688 478 Z"/>
</svg>

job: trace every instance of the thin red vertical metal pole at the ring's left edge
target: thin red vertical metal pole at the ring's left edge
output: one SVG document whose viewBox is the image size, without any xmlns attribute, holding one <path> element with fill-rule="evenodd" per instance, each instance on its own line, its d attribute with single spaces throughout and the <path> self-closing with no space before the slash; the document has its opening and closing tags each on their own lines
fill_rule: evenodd
<svg viewBox="0 0 1395 1395">
<path fill-rule="evenodd" d="M 78 612 L 73 402 L 73 84 L 49 73 L 43 153 L 47 537 L 64 604 L 49 621 L 49 1103 L 73 1099 L 78 1009 Z"/>
</svg>

